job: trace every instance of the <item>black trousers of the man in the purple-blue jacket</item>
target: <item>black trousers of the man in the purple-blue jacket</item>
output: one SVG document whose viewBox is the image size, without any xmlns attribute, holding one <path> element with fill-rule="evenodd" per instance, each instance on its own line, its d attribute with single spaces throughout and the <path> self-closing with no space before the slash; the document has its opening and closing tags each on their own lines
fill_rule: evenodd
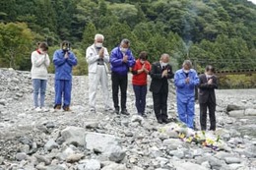
<svg viewBox="0 0 256 170">
<path fill-rule="evenodd" d="M 112 97 L 114 108 L 119 110 L 118 90 L 121 90 L 121 109 L 126 110 L 126 91 L 127 91 L 127 75 L 118 75 L 112 72 Z"/>
</svg>

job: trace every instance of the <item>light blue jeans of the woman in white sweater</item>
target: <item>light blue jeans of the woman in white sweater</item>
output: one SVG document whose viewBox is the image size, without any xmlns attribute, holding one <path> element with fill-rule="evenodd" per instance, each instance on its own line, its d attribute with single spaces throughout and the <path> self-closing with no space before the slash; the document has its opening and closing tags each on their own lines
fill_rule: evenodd
<svg viewBox="0 0 256 170">
<path fill-rule="evenodd" d="M 33 87 L 33 106 L 34 107 L 44 107 L 44 98 L 46 90 L 47 80 L 32 80 Z M 38 104 L 38 94 L 40 93 L 40 105 Z"/>
</svg>

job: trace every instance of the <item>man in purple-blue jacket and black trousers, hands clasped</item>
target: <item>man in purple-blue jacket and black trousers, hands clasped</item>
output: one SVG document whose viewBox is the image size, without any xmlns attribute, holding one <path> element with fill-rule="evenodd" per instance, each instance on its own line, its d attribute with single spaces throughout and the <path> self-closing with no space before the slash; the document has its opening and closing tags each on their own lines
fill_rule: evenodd
<svg viewBox="0 0 256 170">
<path fill-rule="evenodd" d="M 121 90 L 121 114 L 129 115 L 126 109 L 128 72 L 135 65 L 132 51 L 129 49 L 130 41 L 123 39 L 119 46 L 111 51 L 110 66 L 112 80 L 112 96 L 115 113 L 119 114 L 118 90 Z"/>
</svg>

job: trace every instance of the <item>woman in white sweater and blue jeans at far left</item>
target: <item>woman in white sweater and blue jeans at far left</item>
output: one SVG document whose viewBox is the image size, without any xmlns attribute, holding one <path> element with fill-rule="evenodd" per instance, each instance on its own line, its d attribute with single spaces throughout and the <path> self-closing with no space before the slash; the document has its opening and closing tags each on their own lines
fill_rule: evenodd
<svg viewBox="0 0 256 170">
<path fill-rule="evenodd" d="M 38 49 L 32 52 L 32 87 L 33 87 L 33 108 L 35 111 L 47 111 L 44 107 L 45 90 L 47 85 L 47 67 L 50 65 L 50 59 L 47 54 L 48 45 L 46 42 L 40 42 Z M 40 102 L 38 104 L 38 94 Z"/>
</svg>

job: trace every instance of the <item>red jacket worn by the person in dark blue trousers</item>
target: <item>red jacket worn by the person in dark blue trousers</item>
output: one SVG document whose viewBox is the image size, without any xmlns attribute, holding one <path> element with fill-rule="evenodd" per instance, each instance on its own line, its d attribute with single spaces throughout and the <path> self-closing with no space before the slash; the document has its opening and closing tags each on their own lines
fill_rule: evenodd
<svg viewBox="0 0 256 170">
<path fill-rule="evenodd" d="M 151 71 L 151 64 L 148 61 L 145 61 L 145 68 L 148 71 Z M 148 75 L 143 72 L 138 74 L 138 70 L 141 70 L 143 67 L 143 64 L 141 63 L 140 59 L 136 60 L 136 63 L 132 69 L 132 73 L 133 73 L 133 80 L 132 80 L 132 84 L 133 85 L 147 85 L 147 78 Z"/>
</svg>

